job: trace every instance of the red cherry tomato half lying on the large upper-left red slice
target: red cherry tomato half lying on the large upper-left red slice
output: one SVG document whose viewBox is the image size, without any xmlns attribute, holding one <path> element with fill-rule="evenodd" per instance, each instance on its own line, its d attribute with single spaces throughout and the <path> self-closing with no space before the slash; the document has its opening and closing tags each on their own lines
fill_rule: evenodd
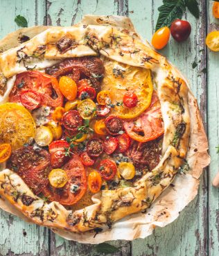
<svg viewBox="0 0 219 256">
<path fill-rule="evenodd" d="M 25 108 L 28 108 L 28 110 L 35 110 L 35 108 L 40 106 L 42 99 L 40 94 L 37 94 L 37 92 L 34 92 L 31 89 L 28 89 L 21 92 L 20 101 Z"/>
</svg>

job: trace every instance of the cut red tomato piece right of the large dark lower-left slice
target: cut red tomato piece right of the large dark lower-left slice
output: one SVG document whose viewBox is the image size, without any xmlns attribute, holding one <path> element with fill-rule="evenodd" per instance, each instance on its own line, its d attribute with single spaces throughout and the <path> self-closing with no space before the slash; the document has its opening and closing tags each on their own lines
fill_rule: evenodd
<svg viewBox="0 0 219 256">
<path fill-rule="evenodd" d="M 64 148 L 69 148 L 69 144 L 64 140 L 56 140 L 49 144 L 51 166 L 53 168 L 60 168 L 69 160 L 69 157 L 65 155 Z"/>
</svg>

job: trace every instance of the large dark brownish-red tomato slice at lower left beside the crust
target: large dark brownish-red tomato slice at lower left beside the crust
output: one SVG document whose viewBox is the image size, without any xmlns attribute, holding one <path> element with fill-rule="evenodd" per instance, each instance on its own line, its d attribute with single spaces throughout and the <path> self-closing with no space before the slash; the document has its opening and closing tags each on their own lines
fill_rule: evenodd
<svg viewBox="0 0 219 256">
<path fill-rule="evenodd" d="M 19 148 L 12 153 L 7 165 L 21 176 L 35 194 L 40 194 L 49 182 L 50 155 L 44 149 L 34 149 L 33 146 Z"/>
</svg>

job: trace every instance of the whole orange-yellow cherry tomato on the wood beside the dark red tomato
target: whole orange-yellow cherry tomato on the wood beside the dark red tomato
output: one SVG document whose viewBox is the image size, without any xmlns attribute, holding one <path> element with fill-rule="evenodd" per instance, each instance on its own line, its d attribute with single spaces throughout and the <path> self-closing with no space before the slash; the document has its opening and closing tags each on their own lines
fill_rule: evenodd
<svg viewBox="0 0 219 256">
<path fill-rule="evenodd" d="M 169 38 L 170 28 L 167 26 L 164 26 L 164 28 L 159 28 L 158 31 L 156 31 L 152 36 L 152 46 L 154 46 L 157 50 L 163 49 L 168 43 Z"/>
</svg>

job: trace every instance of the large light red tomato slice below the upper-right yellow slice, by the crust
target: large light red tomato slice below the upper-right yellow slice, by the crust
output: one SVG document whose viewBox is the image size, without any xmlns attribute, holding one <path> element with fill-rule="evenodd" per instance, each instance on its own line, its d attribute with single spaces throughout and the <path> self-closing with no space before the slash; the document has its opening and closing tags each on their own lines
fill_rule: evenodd
<svg viewBox="0 0 219 256">
<path fill-rule="evenodd" d="M 143 112 L 136 121 L 125 121 L 124 128 L 128 136 L 137 142 L 149 142 L 164 133 L 161 109 L 152 107 Z"/>
</svg>

